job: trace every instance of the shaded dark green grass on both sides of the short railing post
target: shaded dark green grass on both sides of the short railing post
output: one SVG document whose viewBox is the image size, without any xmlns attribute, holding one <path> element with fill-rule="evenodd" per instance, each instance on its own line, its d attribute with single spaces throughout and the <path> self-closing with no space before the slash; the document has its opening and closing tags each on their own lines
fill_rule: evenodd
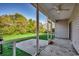
<svg viewBox="0 0 79 59">
<path fill-rule="evenodd" d="M 11 43 L 7 43 L 3 45 L 3 54 L 2 56 L 12 56 L 12 47 L 10 46 Z M 16 48 L 16 56 L 31 56 L 30 54 Z"/>
</svg>

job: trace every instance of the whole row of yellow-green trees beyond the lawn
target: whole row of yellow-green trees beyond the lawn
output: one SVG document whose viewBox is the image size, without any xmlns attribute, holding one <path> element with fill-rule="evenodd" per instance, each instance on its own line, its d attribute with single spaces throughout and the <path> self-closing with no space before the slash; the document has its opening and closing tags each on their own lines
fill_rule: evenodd
<svg viewBox="0 0 79 59">
<path fill-rule="evenodd" d="M 23 15 L 16 13 L 15 15 L 0 16 L 0 29 L 3 34 L 25 34 L 35 33 L 36 21 L 27 20 Z M 40 23 L 40 32 L 45 32 L 43 24 Z"/>
</svg>

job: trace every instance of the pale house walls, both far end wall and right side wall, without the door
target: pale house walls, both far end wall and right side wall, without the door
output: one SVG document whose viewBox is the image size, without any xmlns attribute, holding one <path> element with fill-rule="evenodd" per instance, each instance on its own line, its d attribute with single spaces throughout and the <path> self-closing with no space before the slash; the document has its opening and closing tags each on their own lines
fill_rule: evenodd
<svg viewBox="0 0 79 59">
<path fill-rule="evenodd" d="M 72 44 L 76 51 L 79 53 L 79 4 L 76 4 L 71 18 L 67 21 L 58 21 L 55 23 L 55 37 L 57 38 L 69 38 L 69 26 L 72 22 Z"/>
</svg>

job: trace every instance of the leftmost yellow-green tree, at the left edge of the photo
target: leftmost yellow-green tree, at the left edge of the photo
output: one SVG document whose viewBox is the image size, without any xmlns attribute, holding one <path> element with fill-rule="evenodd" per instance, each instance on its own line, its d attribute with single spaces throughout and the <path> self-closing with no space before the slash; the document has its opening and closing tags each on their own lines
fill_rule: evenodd
<svg viewBox="0 0 79 59">
<path fill-rule="evenodd" d="M 3 30 L 4 34 L 10 34 L 14 32 L 13 21 L 9 15 L 0 17 L 0 27 Z"/>
</svg>

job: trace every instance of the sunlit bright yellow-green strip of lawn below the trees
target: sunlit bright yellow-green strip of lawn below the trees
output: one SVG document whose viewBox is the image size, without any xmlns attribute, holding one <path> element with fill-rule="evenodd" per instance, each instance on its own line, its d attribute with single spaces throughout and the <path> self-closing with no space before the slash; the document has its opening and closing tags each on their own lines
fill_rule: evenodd
<svg viewBox="0 0 79 59">
<path fill-rule="evenodd" d="M 40 33 L 40 35 L 44 35 L 44 34 L 45 33 Z M 34 33 L 27 33 L 27 34 L 18 34 L 18 35 L 3 35 L 4 41 L 29 39 L 30 37 L 36 37 L 36 34 L 34 34 Z"/>
</svg>

